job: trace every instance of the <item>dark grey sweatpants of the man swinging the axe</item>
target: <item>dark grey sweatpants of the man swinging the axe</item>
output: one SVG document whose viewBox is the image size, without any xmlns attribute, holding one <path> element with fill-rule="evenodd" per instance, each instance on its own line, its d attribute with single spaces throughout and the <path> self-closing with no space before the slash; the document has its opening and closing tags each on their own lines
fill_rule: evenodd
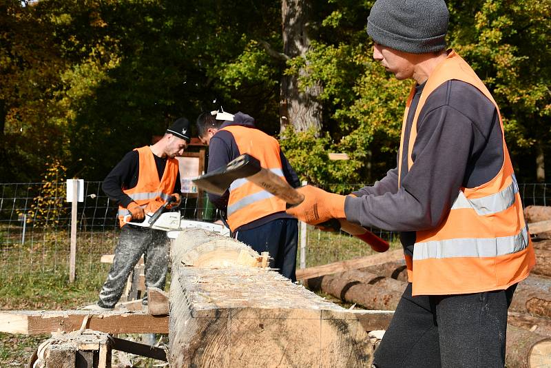
<svg viewBox="0 0 551 368">
<path fill-rule="evenodd" d="M 494 368 L 505 364 L 507 309 L 514 289 L 411 296 L 408 283 L 381 344 L 377 368 Z"/>
</svg>

